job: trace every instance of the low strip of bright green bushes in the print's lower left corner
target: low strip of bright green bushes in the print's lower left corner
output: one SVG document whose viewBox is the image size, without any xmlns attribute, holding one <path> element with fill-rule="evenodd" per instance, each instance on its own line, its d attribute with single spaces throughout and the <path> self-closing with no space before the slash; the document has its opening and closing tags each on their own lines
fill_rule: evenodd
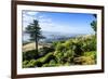
<svg viewBox="0 0 108 79">
<path fill-rule="evenodd" d="M 53 61 L 53 62 L 51 62 Z M 56 63 L 56 57 L 53 55 L 53 53 L 48 53 L 43 57 L 40 57 L 38 60 L 30 60 L 30 61 L 24 61 L 23 62 L 23 67 L 41 67 L 44 64 L 48 63 Z"/>
</svg>

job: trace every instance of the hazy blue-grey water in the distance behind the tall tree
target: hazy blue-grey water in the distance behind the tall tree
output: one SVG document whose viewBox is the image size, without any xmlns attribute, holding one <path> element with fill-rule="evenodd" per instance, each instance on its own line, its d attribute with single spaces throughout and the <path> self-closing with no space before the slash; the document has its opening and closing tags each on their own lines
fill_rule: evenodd
<svg viewBox="0 0 108 79">
<path fill-rule="evenodd" d="M 84 35 L 84 34 L 62 34 L 62 32 L 44 31 L 42 32 L 42 36 L 44 36 L 45 39 L 42 39 L 41 41 L 56 41 L 56 40 L 69 39 L 77 37 L 79 35 Z M 30 39 L 29 34 L 24 32 L 23 41 L 29 41 L 29 39 Z"/>
</svg>

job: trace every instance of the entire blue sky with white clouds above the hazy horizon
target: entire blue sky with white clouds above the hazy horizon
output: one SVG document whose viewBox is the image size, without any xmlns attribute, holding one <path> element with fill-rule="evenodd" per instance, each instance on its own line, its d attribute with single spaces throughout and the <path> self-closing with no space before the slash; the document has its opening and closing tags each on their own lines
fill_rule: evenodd
<svg viewBox="0 0 108 79">
<path fill-rule="evenodd" d="M 33 19 L 38 19 L 42 31 L 94 34 L 94 30 L 90 25 L 92 21 L 95 19 L 93 14 L 37 11 L 23 11 L 22 14 L 23 30 L 25 30 Z"/>
</svg>

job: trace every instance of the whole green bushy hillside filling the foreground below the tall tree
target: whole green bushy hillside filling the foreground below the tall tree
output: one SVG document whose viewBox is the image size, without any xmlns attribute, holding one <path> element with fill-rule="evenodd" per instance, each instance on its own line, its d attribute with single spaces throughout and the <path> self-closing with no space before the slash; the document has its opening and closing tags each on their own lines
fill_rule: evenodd
<svg viewBox="0 0 108 79">
<path fill-rule="evenodd" d="M 43 47 L 23 53 L 23 67 L 54 67 L 96 64 L 96 37 L 77 37 L 64 42 L 56 41 L 51 47 Z"/>
</svg>

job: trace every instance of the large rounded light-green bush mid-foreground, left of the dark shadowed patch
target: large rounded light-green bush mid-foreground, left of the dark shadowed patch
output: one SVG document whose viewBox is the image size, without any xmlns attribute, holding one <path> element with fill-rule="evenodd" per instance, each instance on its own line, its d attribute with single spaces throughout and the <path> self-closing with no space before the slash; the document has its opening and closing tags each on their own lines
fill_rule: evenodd
<svg viewBox="0 0 108 79">
<path fill-rule="evenodd" d="M 68 45 L 68 47 L 67 47 Z M 72 51 L 72 44 L 70 44 L 70 41 L 66 41 L 64 43 L 58 43 L 56 45 L 56 52 L 55 56 L 57 57 L 57 61 L 59 64 L 65 65 L 67 62 L 71 63 L 73 57 L 73 51 Z"/>
</svg>

